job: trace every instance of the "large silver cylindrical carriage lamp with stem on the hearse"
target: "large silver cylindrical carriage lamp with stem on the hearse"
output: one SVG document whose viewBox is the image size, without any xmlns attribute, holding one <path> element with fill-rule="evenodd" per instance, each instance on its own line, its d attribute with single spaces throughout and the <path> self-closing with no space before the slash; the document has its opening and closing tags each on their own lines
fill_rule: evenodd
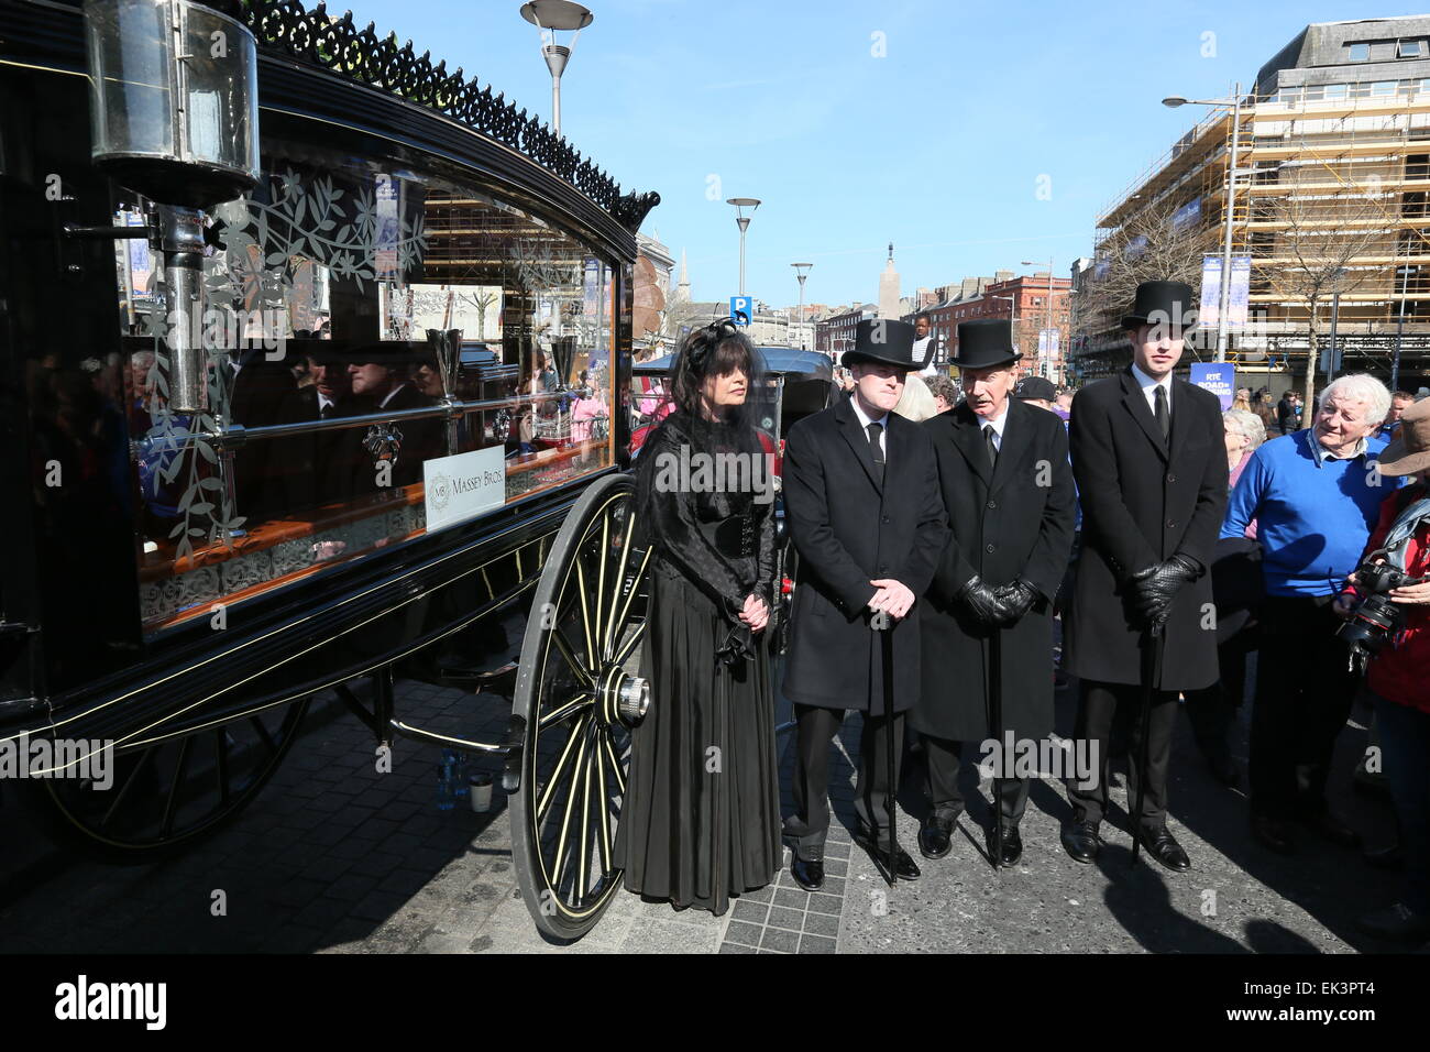
<svg viewBox="0 0 1430 1052">
<path fill-rule="evenodd" d="M 202 209 L 259 179 L 257 43 L 237 0 L 86 0 L 90 159 L 159 205 L 169 399 L 204 408 Z"/>
</svg>

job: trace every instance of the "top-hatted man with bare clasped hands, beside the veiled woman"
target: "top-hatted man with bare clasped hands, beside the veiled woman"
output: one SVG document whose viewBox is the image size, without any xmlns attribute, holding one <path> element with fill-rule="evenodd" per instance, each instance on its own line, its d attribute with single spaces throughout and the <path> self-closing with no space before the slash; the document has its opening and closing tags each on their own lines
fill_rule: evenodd
<svg viewBox="0 0 1430 1052">
<path fill-rule="evenodd" d="M 807 890 L 824 883 L 829 743 L 849 708 L 864 713 L 857 839 L 881 853 L 891 842 L 885 807 L 898 789 L 902 749 L 888 770 L 887 736 L 902 746 L 904 713 L 918 697 L 915 597 L 948 535 L 928 435 L 891 412 L 904 376 L 919 366 L 912 349 L 912 325 L 861 321 L 842 359 L 854 374 L 851 396 L 795 424 L 785 444 L 785 515 L 799 552 L 784 677 L 799 724 L 795 813 L 785 833 L 795 842 L 791 873 Z M 894 618 L 894 713 L 885 711 L 882 641 L 869 624 L 878 611 Z M 895 873 L 918 877 L 904 850 Z"/>
</svg>

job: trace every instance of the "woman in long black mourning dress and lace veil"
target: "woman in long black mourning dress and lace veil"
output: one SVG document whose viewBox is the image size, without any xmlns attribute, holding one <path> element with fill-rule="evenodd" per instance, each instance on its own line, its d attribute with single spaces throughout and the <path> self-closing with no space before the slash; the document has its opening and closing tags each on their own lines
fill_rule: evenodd
<svg viewBox="0 0 1430 1052">
<path fill-rule="evenodd" d="M 732 323 L 694 331 L 675 361 L 676 411 L 636 469 L 636 528 L 654 548 L 642 656 L 651 708 L 632 734 L 616 852 L 628 890 L 716 916 L 782 862 L 766 631 L 772 445 L 746 401 L 758 374 L 758 352 Z M 701 474 L 722 461 L 746 471 L 724 482 L 714 468 Z"/>
</svg>

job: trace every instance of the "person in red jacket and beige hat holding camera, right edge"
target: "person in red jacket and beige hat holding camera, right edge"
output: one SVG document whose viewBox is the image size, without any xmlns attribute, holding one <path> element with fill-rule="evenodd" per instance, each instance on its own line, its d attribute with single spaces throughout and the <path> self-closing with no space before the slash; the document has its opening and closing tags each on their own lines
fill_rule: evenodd
<svg viewBox="0 0 1430 1052">
<path fill-rule="evenodd" d="M 1361 561 L 1399 560 L 1411 578 L 1430 577 L 1430 399 L 1407 409 L 1401 421 L 1400 435 L 1381 454 L 1380 474 L 1414 482 L 1381 504 Z M 1356 574 L 1350 581 L 1336 601 L 1341 617 L 1351 617 L 1364 598 Z M 1404 617 L 1404 630 L 1370 660 L 1366 688 L 1400 820 L 1406 886 L 1399 902 L 1358 923 L 1371 935 L 1417 943 L 1430 939 L 1430 581 L 1383 594 Z"/>
</svg>

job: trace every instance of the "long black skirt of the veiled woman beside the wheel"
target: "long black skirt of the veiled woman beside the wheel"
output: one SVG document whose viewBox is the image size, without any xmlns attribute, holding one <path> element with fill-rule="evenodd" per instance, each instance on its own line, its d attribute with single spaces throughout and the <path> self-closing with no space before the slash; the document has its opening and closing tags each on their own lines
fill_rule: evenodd
<svg viewBox="0 0 1430 1052">
<path fill-rule="evenodd" d="M 714 604 L 664 562 L 651 588 L 651 708 L 632 733 L 616 859 L 628 890 L 718 916 L 782 862 L 768 630 L 754 658 L 719 664 L 729 624 Z"/>
</svg>

